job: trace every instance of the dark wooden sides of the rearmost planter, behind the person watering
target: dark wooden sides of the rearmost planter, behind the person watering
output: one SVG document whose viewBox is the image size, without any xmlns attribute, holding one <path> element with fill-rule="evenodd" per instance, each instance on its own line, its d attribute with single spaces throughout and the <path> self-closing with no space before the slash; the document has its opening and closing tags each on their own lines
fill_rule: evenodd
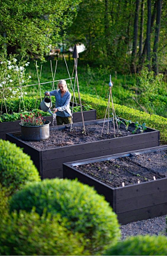
<svg viewBox="0 0 167 256">
<path fill-rule="evenodd" d="M 96 119 L 96 110 L 84 111 L 83 114 L 84 114 L 85 121 Z M 73 116 L 73 119 L 72 119 L 73 123 L 79 123 L 82 121 L 81 112 L 74 112 L 72 116 Z M 49 120 L 51 122 L 50 126 L 52 125 L 52 116 L 44 116 L 44 119 Z M 0 139 L 6 140 L 6 133 L 15 133 L 20 131 L 19 123 L 20 123 L 20 120 L 0 123 Z"/>
</svg>

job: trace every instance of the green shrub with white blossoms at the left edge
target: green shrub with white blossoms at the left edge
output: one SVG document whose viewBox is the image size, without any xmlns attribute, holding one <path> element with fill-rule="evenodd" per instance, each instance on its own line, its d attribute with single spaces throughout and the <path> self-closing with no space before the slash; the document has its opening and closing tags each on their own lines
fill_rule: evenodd
<svg viewBox="0 0 167 256">
<path fill-rule="evenodd" d="M 22 86 L 29 83 L 31 76 L 26 74 L 25 66 L 29 66 L 29 62 L 19 61 L 15 55 L 10 54 L 7 58 L 5 53 L 0 55 L 0 97 L 5 100 L 13 98 L 17 95 L 23 97 L 26 92 L 22 90 Z"/>
</svg>

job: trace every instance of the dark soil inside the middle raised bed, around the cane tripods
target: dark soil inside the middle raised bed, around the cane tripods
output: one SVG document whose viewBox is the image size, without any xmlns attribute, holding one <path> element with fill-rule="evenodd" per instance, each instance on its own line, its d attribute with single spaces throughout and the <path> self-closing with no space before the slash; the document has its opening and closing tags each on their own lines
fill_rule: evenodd
<svg viewBox="0 0 167 256">
<path fill-rule="evenodd" d="M 115 128 L 115 132 L 113 129 L 113 123 L 109 123 L 108 130 L 108 122 L 104 124 L 104 129 L 102 133 L 103 123 L 94 123 L 86 125 L 86 135 L 83 131 L 83 126 L 74 126 L 72 125 L 72 130 L 70 130 L 70 125 L 66 126 L 61 130 L 57 130 L 54 127 L 50 128 L 50 136 L 47 140 L 42 140 L 40 142 L 26 142 L 27 144 L 35 147 L 36 149 L 53 149 L 61 146 L 70 146 L 74 144 L 81 144 L 86 142 L 96 142 L 99 140 L 107 140 L 114 137 L 124 137 L 132 135 L 133 127 L 129 126 L 128 130 L 125 130 L 124 127 L 120 127 L 117 130 Z M 137 130 L 137 133 L 140 133 Z M 22 140 L 21 136 L 19 137 Z"/>
</svg>

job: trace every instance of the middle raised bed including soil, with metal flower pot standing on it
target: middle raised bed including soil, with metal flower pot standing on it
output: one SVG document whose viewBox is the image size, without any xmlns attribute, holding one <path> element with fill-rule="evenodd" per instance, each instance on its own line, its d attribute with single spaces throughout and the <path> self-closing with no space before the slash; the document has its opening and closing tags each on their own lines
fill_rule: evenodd
<svg viewBox="0 0 167 256">
<path fill-rule="evenodd" d="M 113 153 L 121 153 L 147 147 L 159 146 L 159 131 L 147 128 L 144 133 L 132 135 L 125 128 L 120 128 L 118 135 L 113 134 L 113 124 L 109 122 L 101 137 L 104 119 L 86 121 L 86 135 L 82 123 L 74 123 L 72 132 L 70 126 L 54 126 L 50 128 L 50 137 L 41 142 L 24 142 L 20 133 L 6 134 L 6 140 L 24 149 L 38 167 L 42 179 L 63 177 L 63 163 L 73 160 L 95 158 Z M 134 129 L 134 123 L 130 125 Z M 116 137 L 117 136 L 117 137 Z"/>
</svg>

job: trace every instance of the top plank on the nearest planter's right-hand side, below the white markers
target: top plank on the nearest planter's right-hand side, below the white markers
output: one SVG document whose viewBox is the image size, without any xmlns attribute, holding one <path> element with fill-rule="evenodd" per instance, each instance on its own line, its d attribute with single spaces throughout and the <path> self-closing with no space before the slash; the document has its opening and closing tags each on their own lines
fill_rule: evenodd
<svg viewBox="0 0 167 256">
<path fill-rule="evenodd" d="M 166 190 L 167 178 L 157 179 L 156 181 L 147 181 L 145 183 L 125 186 L 124 188 L 117 188 L 116 200 L 125 200 L 150 193 L 157 193 Z"/>
</svg>

